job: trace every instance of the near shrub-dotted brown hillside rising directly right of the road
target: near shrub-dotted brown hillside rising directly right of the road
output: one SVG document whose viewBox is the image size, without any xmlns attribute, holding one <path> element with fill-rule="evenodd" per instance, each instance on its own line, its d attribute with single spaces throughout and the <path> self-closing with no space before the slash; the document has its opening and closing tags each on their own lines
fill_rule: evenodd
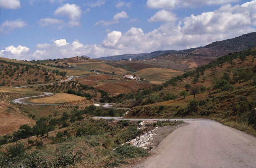
<svg viewBox="0 0 256 168">
<path fill-rule="evenodd" d="M 255 50 L 228 54 L 163 85 L 113 100 L 133 107 L 127 117 L 211 118 L 256 135 L 255 58 Z"/>
</svg>

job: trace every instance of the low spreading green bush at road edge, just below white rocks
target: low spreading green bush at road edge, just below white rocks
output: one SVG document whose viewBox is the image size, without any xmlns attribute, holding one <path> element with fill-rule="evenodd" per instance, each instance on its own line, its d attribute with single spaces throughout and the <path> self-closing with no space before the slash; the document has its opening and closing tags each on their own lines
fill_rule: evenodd
<svg viewBox="0 0 256 168">
<path fill-rule="evenodd" d="M 114 154 L 125 159 L 130 159 L 134 157 L 144 157 L 149 155 L 146 149 L 138 148 L 130 144 L 118 146 L 114 151 Z"/>
</svg>

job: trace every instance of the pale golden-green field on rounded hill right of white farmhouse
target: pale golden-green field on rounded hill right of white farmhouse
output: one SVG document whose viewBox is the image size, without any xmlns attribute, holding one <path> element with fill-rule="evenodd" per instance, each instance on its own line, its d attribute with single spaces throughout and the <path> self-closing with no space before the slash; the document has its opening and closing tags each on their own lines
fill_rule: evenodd
<svg viewBox="0 0 256 168">
<path fill-rule="evenodd" d="M 172 76 L 182 75 L 184 72 L 167 68 L 146 68 L 135 72 L 136 77 L 148 79 L 151 83 L 161 84 L 172 78 Z"/>
</svg>

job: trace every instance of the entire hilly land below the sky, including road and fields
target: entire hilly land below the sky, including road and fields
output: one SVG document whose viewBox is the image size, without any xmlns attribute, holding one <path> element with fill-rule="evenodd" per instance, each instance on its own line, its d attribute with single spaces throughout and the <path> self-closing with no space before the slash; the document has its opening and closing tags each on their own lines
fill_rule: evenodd
<svg viewBox="0 0 256 168">
<path fill-rule="evenodd" d="M 252 167 L 253 37 L 99 59 L 1 57 L 0 167 Z"/>
</svg>

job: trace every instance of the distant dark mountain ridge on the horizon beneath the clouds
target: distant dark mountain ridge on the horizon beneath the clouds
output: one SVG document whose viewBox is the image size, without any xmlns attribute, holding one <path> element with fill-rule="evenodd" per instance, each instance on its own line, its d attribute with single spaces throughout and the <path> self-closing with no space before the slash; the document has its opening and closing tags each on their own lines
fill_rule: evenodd
<svg viewBox="0 0 256 168">
<path fill-rule="evenodd" d="M 140 53 L 140 54 L 123 54 L 123 55 L 115 55 L 115 56 L 108 56 L 108 57 L 100 57 L 97 59 L 100 60 L 122 60 L 122 59 L 128 59 L 132 58 L 132 60 L 148 60 L 152 59 L 154 57 L 161 56 L 163 54 L 171 54 L 173 56 L 178 55 L 180 57 L 187 57 L 190 54 L 193 54 L 193 56 L 211 56 L 211 57 L 220 57 L 224 56 L 230 52 L 239 52 L 243 51 L 245 49 L 252 48 L 256 46 L 256 32 L 244 34 L 242 36 L 238 36 L 235 38 L 222 40 L 213 42 L 211 44 L 208 44 L 204 47 L 197 47 L 197 48 L 191 48 L 191 49 L 185 49 L 180 51 L 175 50 L 166 50 L 166 51 L 155 51 L 151 53 Z"/>
</svg>

